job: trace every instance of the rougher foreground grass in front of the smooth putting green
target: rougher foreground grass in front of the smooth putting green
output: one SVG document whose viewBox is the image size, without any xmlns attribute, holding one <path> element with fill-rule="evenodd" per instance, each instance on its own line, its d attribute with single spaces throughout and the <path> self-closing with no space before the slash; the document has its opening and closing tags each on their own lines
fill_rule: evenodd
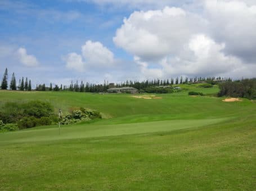
<svg viewBox="0 0 256 191">
<path fill-rule="evenodd" d="M 5 142 L 0 189 L 253 190 L 255 124 L 248 116 L 146 134 Z"/>
</svg>

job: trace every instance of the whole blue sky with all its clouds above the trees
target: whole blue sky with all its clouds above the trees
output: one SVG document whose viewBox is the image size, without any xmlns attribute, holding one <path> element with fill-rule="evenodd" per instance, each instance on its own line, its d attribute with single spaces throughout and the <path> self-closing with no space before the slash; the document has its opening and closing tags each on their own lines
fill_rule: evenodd
<svg viewBox="0 0 256 191">
<path fill-rule="evenodd" d="M 251 78 L 255 29 L 255 0 L 0 0 L 0 75 L 66 85 Z"/>
</svg>

